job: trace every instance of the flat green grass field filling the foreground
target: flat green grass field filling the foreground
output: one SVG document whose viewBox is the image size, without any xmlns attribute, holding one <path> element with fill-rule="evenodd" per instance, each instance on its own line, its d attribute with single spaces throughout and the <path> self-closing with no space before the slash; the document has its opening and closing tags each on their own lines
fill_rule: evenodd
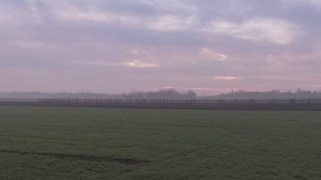
<svg viewBox="0 0 321 180">
<path fill-rule="evenodd" d="M 321 112 L 0 106 L 0 179 L 321 179 Z"/>
</svg>

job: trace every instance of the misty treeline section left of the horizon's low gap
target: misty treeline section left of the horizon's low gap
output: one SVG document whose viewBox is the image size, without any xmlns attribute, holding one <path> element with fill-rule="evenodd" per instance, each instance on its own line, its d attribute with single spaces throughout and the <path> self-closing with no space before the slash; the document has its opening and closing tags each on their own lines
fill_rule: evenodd
<svg viewBox="0 0 321 180">
<path fill-rule="evenodd" d="M 0 92 L 0 98 L 18 98 L 18 99 L 38 99 L 38 98 L 117 98 L 117 99 L 195 99 L 197 95 L 194 91 L 179 92 L 175 89 L 157 90 L 153 92 L 130 92 L 120 94 L 107 93 L 47 93 L 47 92 Z"/>
</svg>

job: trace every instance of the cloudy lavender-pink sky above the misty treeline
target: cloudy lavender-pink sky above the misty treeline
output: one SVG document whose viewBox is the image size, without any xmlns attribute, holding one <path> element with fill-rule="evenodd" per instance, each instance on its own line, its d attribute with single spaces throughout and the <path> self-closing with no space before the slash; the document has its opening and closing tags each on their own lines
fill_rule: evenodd
<svg viewBox="0 0 321 180">
<path fill-rule="evenodd" d="M 321 0 L 0 0 L 0 91 L 321 89 Z"/>
</svg>

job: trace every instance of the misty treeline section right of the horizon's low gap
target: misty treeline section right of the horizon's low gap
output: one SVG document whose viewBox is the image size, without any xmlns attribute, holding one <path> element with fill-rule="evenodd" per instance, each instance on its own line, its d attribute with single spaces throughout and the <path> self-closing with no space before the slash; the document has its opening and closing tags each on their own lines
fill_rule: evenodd
<svg viewBox="0 0 321 180">
<path fill-rule="evenodd" d="M 209 97 L 210 99 L 306 99 L 306 98 L 321 98 L 321 92 L 302 90 L 298 88 L 295 92 L 281 92 L 279 89 L 271 91 L 237 91 L 226 94 L 220 94 Z"/>
</svg>

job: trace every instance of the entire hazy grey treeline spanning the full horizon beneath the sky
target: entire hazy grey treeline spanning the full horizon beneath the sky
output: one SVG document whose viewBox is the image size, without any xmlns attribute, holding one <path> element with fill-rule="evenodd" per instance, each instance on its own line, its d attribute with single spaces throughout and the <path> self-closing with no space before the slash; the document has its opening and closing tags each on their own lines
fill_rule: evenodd
<svg viewBox="0 0 321 180">
<path fill-rule="evenodd" d="M 302 90 L 298 88 L 295 92 L 281 92 L 278 89 L 271 91 L 236 91 L 220 95 L 198 97 L 197 94 L 190 90 L 180 92 L 175 89 L 164 89 L 152 92 L 135 91 L 130 93 L 107 94 L 107 93 L 92 93 L 92 92 L 0 92 L 0 98 L 15 98 L 15 99 L 38 99 L 38 98 L 102 98 L 102 99 L 321 99 L 321 92 Z"/>
</svg>

